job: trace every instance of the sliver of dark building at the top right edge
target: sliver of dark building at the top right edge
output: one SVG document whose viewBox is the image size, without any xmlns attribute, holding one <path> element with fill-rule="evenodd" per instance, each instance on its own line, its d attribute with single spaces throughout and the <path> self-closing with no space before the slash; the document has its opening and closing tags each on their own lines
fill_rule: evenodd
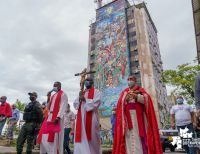
<svg viewBox="0 0 200 154">
<path fill-rule="evenodd" d="M 197 58 L 200 64 L 200 0 L 192 0 L 194 27 L 197 43 Z"/>
</svg>

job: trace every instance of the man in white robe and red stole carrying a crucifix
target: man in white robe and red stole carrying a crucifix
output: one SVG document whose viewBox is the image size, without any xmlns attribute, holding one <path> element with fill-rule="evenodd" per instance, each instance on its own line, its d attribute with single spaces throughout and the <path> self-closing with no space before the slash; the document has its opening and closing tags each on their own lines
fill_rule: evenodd
<svg viewBox="0 0 200 154">
<path fill-rule="evenodd" d="M 98 115 L 101 93 L 94 89 L 91 78 L 85 80 L 85 86 L 85 91 L 74 101 L 78 110 L 74 154 L 101 154 Z"/>
</svg>

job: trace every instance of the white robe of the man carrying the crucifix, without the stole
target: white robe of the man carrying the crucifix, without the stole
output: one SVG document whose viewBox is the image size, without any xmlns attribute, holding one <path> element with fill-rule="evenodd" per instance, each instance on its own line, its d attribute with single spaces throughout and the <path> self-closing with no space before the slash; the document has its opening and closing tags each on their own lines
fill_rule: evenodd
<svg viewBox="0 0 200 154">
<path fill-rule="evenodd" d="M 101 104 L 101 93 L 95 89 L 94 98 L 88 99 L 88 91 L 85 92 L 86 102 L 81 104 L 81 142 L 74 142 L 74 154 L 102 154 L 100 148 L 100 134 L 99 134 L 99 115 L 98 108 Z M 78 110 L 80 105 L 79 98 L 74 101 L 74 108 Z M 86 112 L 93 111 L 92 113 L 92 139 L 88 141 L 85 124 Z M 75 131 L 76 132 L 76 131 Z M 75 137 L 76 138 L 76 134 Z"/>
</svg>

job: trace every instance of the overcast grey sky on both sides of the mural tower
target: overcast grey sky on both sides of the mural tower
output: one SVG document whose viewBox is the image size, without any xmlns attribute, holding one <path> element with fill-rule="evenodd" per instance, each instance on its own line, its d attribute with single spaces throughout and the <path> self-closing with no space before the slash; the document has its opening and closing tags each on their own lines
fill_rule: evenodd
<svg viewBox="0 0 200 154">
<path fill-rule="evenodd" d="M 158 30 L 164 69 L 191 62 L 196 44 L 190 0 L 146 0 Z M 87 66 L 94 0 L 0 0 L 0 95 L 8 102 L 40 102 L 61 81 L 69 103 L 77 97 Z"/>
</svg>

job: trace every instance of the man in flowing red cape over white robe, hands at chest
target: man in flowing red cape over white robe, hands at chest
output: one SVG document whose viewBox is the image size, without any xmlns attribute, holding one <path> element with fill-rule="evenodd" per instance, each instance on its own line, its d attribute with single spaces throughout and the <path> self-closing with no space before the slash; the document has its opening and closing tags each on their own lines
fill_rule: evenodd
<svg viewBox="0 0 200 154">
<path fill-rule="evenodd" d="M 112 154 L 161 154 L 162 147 L 153 103 L 136 85 L 133 75 L 117 103 Z"/>
</svg>

